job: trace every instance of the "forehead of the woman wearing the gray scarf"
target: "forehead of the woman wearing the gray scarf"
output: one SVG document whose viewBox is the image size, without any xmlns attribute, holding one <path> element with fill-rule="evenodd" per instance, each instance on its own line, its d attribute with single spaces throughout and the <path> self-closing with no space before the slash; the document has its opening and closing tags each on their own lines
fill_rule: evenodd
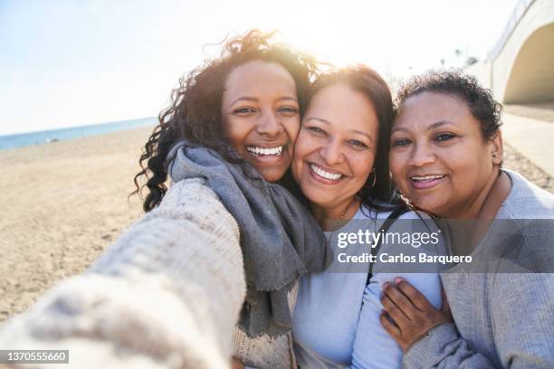
<svg viewBox="0 0 554 369">
<path fill-rule="evenodd" d="M 291 73 L 280 64 L 259 60 L 248 61 L 229 73 L 225 80 L 224 95 L 296 97 L 296 84 Z"/>
</svg>

